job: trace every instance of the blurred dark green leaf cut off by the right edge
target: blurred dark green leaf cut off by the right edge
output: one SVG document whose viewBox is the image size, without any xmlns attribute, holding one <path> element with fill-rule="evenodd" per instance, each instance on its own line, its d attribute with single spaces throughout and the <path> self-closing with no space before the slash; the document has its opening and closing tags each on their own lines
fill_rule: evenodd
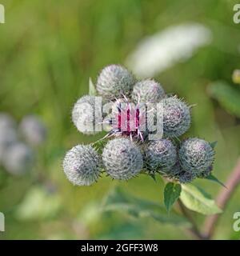
<svg viewBox="0 0 240 256">
<path fill-rule="evenodd" d="M 208 91 L 227 112 L 240 117 L 240 90 L 226 82 L 218 81 L 211 83 Z"/>
</svg>

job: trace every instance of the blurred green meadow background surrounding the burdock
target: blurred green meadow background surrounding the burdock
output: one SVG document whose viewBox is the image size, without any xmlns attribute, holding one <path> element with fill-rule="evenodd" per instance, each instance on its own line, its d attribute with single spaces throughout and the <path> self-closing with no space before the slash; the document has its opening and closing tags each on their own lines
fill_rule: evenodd
<svg viewBox="0 0 240 256">
<path fill-rule="evenodd" d="M 0 111 L 20 120 L 38 114 L 48 139 L 38 150 L 34 170 L 13 177 L 0 169 L 0 211 L 6 232 L 0 239 L 139 238 L 191 239 L 178 226 L 149 218 L 133 220 L 119 213 L 99 214 L 112 186 L 139 198 L 162 202 L 163 184 L 142 175 L 129 182 L 103 177 L 90 187 L 72 186 L 62 171 L 65 151 L 98 137 L 79 134 L 70 119 L 74 102 L 88 92 L 99 70 L 126 58 L 146 36 L 182 22 L 207 26 L 213 41 L 186 62 L 155 76 L 166 92 L 176 93 L 193 109 L 187 135 L 218 141 L 214 174 L 223 182 L 240 155 L 239 117 L 208 94 L 208 85 L 240 68 L 240 24 L 233 22 L 237 1 L 160 0 L 2 0 L 6 24 L 0 24 Z M 240 107 L 240 102 L 238 102 Z M 196 184 L 216 196 L 220 186 Z M 231 198 L 214 238 L 238 239 L 233 214 L 240 211 L 240 187 Z M 201 225 L 203 217 L 194 214 Z"/>
</svg>

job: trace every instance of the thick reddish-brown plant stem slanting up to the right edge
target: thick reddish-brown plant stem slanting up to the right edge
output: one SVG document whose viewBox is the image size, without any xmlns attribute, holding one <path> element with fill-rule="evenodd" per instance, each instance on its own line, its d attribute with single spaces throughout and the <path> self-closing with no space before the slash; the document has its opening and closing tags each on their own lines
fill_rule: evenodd
<svg viewBox="0 0 240 256">
<path fill-rule="evenodd" d="M 233 172 L 230 174 L 228 181 L 226 182 L 226 188 L 223 188 L 218 194 L 218 198 L 216 200 L 218 206 L 224 210 L 226 208 L 227 203 L 230 200 L 230 197 L 234 193 L 234 190 L 240 184 L 240 158 L 238 158 L 238 162 L 234 167 Z M 206 218 L 206 222 L 204 225 L 204 238 L 210 239 L 214 235 L 214 231 L 216 229 L 218 219 L 220 214 L 214 214 L 210 217 Z"/>
</svg>

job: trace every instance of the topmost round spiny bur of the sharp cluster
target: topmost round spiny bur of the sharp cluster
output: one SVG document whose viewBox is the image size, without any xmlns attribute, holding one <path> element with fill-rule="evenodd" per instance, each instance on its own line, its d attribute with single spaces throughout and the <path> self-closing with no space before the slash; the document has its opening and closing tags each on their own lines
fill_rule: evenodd
<svg viewBox="0 0 240 256">
<path fill-rule="evenodd" d="M 104 98 L 121 98 L 130 95 L 136 82 L 134 75 L 120 65 L 106 66 L 98 76 L 96 89 Z"/>
</svg>

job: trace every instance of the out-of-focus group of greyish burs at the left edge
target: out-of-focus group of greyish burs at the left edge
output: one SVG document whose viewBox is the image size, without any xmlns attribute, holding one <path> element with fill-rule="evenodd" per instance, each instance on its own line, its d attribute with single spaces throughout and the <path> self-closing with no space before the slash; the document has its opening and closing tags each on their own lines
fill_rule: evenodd
<svg viewBox="0 0 240 256">
<path fill-rule="evenodd" d="M 38 117 L 27 115 L 18 124 L 10 114 L 0 113 L 0 166 L 10 174 L 25 174 L 45 139 L 46 127 Z"/>
</svg>

